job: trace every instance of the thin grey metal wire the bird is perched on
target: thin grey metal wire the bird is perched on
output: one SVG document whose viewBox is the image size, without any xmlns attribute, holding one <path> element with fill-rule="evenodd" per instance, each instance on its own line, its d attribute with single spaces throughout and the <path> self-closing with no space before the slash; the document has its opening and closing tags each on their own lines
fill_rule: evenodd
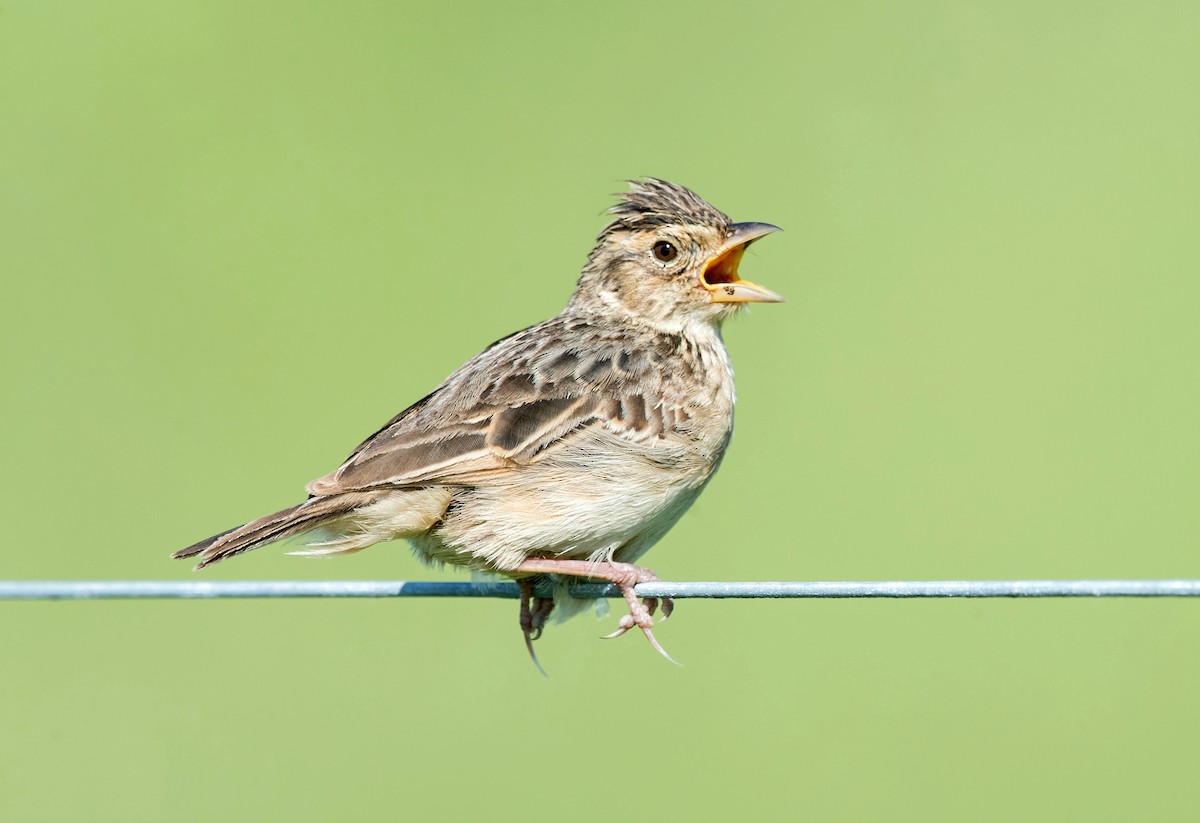
<svg viewBox="0 0 1200 823">
<path fill-rule="evenodd" d="M 862 581 L 641 583 L 643 597 L 1198 597 L 1200 579 Z M 617 597 L 604 583 L 577 597 Z M 540 589 L 548 595 L 548 589 Z M 0 600 L 206 600 L 217 597 L 505 597 L 516 583 L 454 581 L 0 581 Z"/>
</svg>

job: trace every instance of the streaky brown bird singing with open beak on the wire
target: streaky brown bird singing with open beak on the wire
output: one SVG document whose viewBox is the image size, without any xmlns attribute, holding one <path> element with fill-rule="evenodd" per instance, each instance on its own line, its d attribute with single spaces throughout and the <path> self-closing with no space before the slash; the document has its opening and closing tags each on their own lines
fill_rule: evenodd
<svg viewBox="0 0 1200 823">
<path fill-rule="evenodd" d="M 736 223 L 658 178 L 628 182 L 558 316 L 467 361 L 304 501 L 173 557 L 199 570 L 284 539 L 307 555 L 404 539 L 430 565 L 515 579 L 540 671 L 533 642 L 556 605 L 587 606 L 565 585 L 576 578 L 619 589 L 628 613 L 607 638 L 637 627 L 670 660 L 652 631 L 659 601 L 635 593 L 658 577 L 636 563 L 721 464 L 734 407 L 721 324 L 784 301 L 738 275 L 746 248 L 780 229 Z M 664 619 L 672 608 L 661 601 Z"/>
</svg>

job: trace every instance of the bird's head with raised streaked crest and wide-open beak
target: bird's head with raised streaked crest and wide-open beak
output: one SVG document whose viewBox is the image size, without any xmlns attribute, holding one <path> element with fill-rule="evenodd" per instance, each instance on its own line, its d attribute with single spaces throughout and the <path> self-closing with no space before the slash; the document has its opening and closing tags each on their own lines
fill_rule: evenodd
<svg viewBox="0 0 1200 823">
<path fill-rule="evenodd" d="M 632 316 L 655 326 L 716 324 L 748 302 L 782 298 L 738 276 L 746 247 L 779 232 L 734 223 L 696 193 L 647 178 L 610 209 L 571 298 L 577 310 Z"/>
</svg>

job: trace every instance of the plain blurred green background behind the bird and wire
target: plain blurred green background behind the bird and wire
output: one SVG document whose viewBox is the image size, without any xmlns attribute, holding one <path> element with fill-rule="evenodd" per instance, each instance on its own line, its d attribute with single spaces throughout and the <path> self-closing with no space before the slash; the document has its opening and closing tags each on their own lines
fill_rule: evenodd
<svg viewBox="0 0 1200 823">
<path fill-rule="evenodd" d="M 193 579 L 625 178 L 786 232 L 666 579 L 1200 577 L 1200 6 L 4 2 L 4 578 Z M 402 545 L 205 579 L 461 579 Z M 0 603 L 6 821 L 1194 813 L 1200 603 Z"/>
</svg>

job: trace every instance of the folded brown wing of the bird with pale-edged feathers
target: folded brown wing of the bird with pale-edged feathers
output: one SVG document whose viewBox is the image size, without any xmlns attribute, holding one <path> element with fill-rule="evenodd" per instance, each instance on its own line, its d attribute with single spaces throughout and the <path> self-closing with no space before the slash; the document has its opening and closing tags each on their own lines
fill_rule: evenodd
<svg viewBox="0 0 1200 823">
<path fill-rule="evenodd" d="M 648 360 L 619 341 L 584 341 L 580 348 L 588 354 L 572 352 L 563 347 L 556 322 L 562 323 L 518 332 L 466 364 L 336 471 L 308 483 L 310 493 L 470 482 L 534 462 L 594 426 L 634 440 L 661 435 L 668 421 L 661 404 L 644 400 L 644 379 L 635 368 Z"/>
</svg>

